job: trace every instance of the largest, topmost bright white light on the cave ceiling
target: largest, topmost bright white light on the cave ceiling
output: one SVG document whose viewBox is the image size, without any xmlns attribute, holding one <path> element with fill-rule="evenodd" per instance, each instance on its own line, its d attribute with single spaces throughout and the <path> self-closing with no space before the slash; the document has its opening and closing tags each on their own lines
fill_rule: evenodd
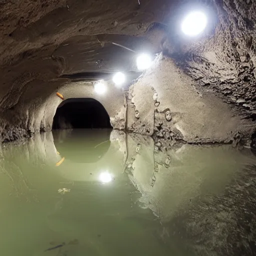
<svg viewBox="0 0 256 256">
<path fill-rule="evenodd" d="M 203 31 L 207 25 L 207 17 L 201 11 L 190 12 L 181 24 L 184 34 L 194 36 Z"/>
</svg>

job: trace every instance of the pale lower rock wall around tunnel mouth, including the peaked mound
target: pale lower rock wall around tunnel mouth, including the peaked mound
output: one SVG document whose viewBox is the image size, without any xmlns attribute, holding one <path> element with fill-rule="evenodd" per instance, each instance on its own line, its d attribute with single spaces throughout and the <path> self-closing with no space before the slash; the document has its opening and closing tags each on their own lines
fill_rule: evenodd
<svg viewBox="0 0 256 256">
<path fill-rule="evenodd" d="M 45 86 L 43 95 L 35 87 L 37 82 L 41 88 Z M 55 110 L 61 102 L 55 91 L 65 99 L 95 98 L 108 112 L 113 128 L 151 135 L 159 143 L 168 141 L 168 145 L 176 140 L 236 143 L 241 138 L 248 139 L 254 128 L 253 121 L 239 115 L 236 107 L 199 87 L 173 60 L 162 54 L 130 86 L 126 97 L 110 81 L 107 92 L 101 96 L 93 91 L 92 82 L 66 81 L 58 88 L 59 82 L 56 81 L 46 84 L 33 80 L 29 85 L 16 104 L 10 106 L 6 103 L 8 100 L 4 101 L 8 109 L 4 111 L 5 119 L 2 120 L 9 120 L 17 127 L 12 135 L 5 129 L 2 140 L 15 139 L 18 137 L 16 133 L 21 136 L 27 131 L 29 135 L 50 130 Z M 31 94 L 33 99 L 29 98 Z"/>
</svg>

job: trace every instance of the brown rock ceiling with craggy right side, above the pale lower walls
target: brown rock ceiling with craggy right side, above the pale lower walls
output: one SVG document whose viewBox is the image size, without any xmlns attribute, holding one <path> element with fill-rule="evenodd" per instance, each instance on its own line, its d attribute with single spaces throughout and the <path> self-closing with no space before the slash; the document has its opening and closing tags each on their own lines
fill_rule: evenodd
<svg viewBox="0 0 256 256">
<path fill-rule="evenodd" d="M 198 6 L 207 29 L 185 38 L 180 20 Z M 47 94 L 55 87 L 40 89 L 38 81 L 136 73 L 134 51 L 146 49 L 163 51 L 198 85 L 255 119 L 255 7 L 253 0 L 0 0 L 1 110 L 31 81 L 31 92 Z"/>
</svg>

